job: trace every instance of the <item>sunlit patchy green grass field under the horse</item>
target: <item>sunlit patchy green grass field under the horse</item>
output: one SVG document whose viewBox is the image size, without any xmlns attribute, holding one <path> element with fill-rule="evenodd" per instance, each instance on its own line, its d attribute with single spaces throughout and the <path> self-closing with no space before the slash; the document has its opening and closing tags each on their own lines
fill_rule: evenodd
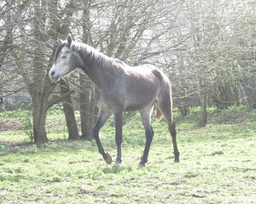
<svg viewBox="0 0 256 204">
<path fill-rule="evenodd" d="M 1 112 L 1 124 L 30 112 Z M 113 168 L 94 141 L 66 141 L 59 111 L 47 119 L 51 140 L 40 147 L 23 130 L 0 132 L 0 203 L 256 203 L 256 111 L 246 107 L 175 112 L 180 164 L 173 163 L 171 137 L 163 120 L 155 131 L 145 168 L 138 169 L 145 137 L 139 116 L 124 125 L 123 163 Z M 21 119 L 18 119 L 21 118 Z M 115 158 L 113 120 L 100 133 Z"/>
</svg>

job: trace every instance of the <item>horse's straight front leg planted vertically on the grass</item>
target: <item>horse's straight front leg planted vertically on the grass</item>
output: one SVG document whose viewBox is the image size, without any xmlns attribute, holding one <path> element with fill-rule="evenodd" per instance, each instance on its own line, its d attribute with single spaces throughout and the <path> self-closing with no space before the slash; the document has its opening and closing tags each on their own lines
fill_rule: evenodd
<svg viewBox="0 0 256 204">
<path fill-rule="evenodd" d="M 122 163 L 122 128 L 123 128 L 123 112 L 115 112 L 115 143 L 117 144 L 117 160 L 114 166 L 119 166 Z"/>
</svg>

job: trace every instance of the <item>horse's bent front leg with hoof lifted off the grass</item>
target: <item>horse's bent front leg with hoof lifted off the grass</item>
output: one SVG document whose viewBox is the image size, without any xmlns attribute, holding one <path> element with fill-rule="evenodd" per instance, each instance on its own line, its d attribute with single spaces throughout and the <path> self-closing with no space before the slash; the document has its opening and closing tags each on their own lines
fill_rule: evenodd
<svg viewBox="0 0 256 204">
<path fill-rule="evenodd" d="M 104 126 L 106 120 L 108 120 L 110 116 L 111 116 L 111 114 L 109 112 L 105 112 L 103 109 L 100 109 L 97 122 L 94 125 L 94 128 L 92 129 L 92 135 L 94 136 L 94 138 L 96 140 L 96 143 L 98 146 L 98 151 L 100 152 L 100 154 L 102 154 L 102 156 L 107 164 L 111 164 L 112 158 L 108 152 L 105 152 L 105 150 L 102 146 L 102 143 L 100 141 L 99 132 L 100 132 L 100 129 L 102 128 L 102 126 Z"/>
</svg>

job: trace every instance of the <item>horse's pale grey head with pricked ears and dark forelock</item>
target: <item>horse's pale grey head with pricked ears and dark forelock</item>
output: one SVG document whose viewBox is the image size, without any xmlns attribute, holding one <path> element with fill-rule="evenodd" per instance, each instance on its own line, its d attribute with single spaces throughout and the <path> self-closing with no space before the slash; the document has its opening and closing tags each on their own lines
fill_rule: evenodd
<svg viewBox="0 0 256 204">
<path fill-rule="evenodd" d="M 55 52 L 55 63 L 49 72 L 49 77 L 52 82 L 57 82 L 59 79 L 73 71 L 77 67 L 76 54 L 71 50 L 72 39 L 68 36 L 68 40 L 62 41 L 58 38 L 59 47 Z"/>
</svg>

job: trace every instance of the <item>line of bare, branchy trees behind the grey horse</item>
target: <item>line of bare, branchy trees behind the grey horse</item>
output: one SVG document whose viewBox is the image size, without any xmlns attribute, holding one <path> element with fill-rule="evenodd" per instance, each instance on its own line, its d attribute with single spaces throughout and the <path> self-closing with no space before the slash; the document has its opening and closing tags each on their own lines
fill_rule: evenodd
<svg viewBox="0 0 256 204">
<path fill-rule="evenodd" d="M 129 65 L 169 76 L 183 115 L 201 106 L 256 108 L 256 3 L 250 0 L 9 0 L 0 3 L 0 98 L 29 92 L 36 143 L 46 142 L 47 110 L 63 104 L 69 139 L 91 138 L 98 109 L 80 71 L 53 84 L 57 37 L 68 35 Z"/>
</svg>

